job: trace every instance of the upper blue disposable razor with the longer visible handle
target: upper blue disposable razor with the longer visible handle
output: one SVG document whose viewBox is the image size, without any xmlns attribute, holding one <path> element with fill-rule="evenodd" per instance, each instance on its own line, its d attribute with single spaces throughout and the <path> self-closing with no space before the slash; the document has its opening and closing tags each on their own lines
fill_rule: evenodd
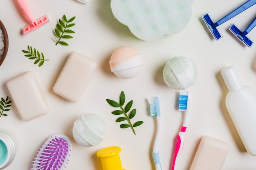
<svg viewBox="0 0 256 170">
<path fill-rule="evenodd" d="M 211 17 L 209 16 L 209 13 L 202 16 L 202 19 L 204 20 L 205 24 L 207 25 L 209 31 L 211 31 L 211 34 L 213 35 L 213 37 L 216 40 L 218 40 L 222 37 L 222 35 L 220 34 L 220 31 L 218 29 L 218 26 L 223 24 L 227 20 L 230 20 L 232 17 L 235 17 L 239 13 L 245 11 L 249 7 L 252 7 L 254 4 L 256 4 L 256 0 L 248 0 L 243 5 L 241 5 L 240 7 L 238 7 L 237 9 L 235 9 L 234 11 L 232 11 L 231 13 L 229 13 L 228 15 L 226 15 L 225 17 L 220 19 L 218 22 L 214 22 L 211 19 Z"/>
</svg>

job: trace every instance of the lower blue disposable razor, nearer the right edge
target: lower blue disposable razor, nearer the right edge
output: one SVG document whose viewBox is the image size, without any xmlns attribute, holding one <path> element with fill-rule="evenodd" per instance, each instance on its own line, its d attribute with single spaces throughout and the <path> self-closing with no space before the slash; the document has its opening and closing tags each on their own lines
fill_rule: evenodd
<svg viewBox="0 0 256 170">
<path fill-rule="evenodd" d="M 237 26 L 234 24 L 229 28 L 229 30 L 238 37 L 240 41 L 242 41 L 245 45 L 248 47 L 251 47 L 254 43 L 253 40 L 251 40 L 249 37 L 247 37 L 247 34 L 252 31 L 252 29 L 256 26 L 256 18 L 245 28 L 244 31 L 241 31 Z"/>
</svg>

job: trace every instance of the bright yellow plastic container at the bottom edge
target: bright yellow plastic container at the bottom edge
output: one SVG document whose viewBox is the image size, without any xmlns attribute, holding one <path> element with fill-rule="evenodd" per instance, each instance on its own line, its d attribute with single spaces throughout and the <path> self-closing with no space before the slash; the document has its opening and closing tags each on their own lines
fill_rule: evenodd
<svg viewBox="0 0 256 170">
<path fill-rule="evenodd" d="M 118 146 L 110 146 L 97 152 L 97 157 L 101 159 L 103 170 L 124 170 L 119 156 L 120 152 L 121 148 Z"/>
</svg>

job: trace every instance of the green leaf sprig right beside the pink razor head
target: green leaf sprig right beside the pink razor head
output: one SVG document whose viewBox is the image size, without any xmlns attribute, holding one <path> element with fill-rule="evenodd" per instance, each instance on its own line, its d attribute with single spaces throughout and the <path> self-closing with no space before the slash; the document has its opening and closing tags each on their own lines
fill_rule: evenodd
<svg viewBox="0 0 256 170">
<path fill-rule="evenodd" d="M 66 39 L 70 39 L 73 38 L 71 35 L 64 35 L 64 33 L 75 33 L 74 31 L 67 29 L 70 28 L 72 26 L 74 26 L 74 23 L 70 23 L 72 21 L 74 21 L 76 17 L 72 17 L 69 20 L 67 20 L 66 15 L 63 15 L 63 20 L 58 19 L 58 24 L 56 24 L 56 28 L 54 28 L 55 34 L 58 37 L 58 39 L 54 36 L 55 40 L 56 40 L 56 44 L 62 44 L 64 46 L 68 46 L 68 44 L 65 41 L 61 41 L 61 38 L 66 38 Z"/>
</svg>

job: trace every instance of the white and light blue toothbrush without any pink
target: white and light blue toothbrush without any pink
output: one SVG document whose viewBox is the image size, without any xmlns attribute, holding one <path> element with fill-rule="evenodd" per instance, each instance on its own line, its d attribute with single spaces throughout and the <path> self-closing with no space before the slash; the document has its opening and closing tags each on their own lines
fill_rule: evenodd
<svg viewBox="0 0 256 170">
<path fill-rule="evenodd" d="M 149 109 L 150 109 L 150 115 L 153 117 L 157 117 L 157 133 L 155 136 L 155 142 L 153 145 L 153 159 L 155 163 L 155 169 L 156 170 L 162 170 L 161 162 L 160 162 L 160 157 L 159 157 L 159 141 L 160 141 L 160 106 L 159 106 L 159 98 L 148 98 L 148 103 L 149 103 Z"/>
</svg>

